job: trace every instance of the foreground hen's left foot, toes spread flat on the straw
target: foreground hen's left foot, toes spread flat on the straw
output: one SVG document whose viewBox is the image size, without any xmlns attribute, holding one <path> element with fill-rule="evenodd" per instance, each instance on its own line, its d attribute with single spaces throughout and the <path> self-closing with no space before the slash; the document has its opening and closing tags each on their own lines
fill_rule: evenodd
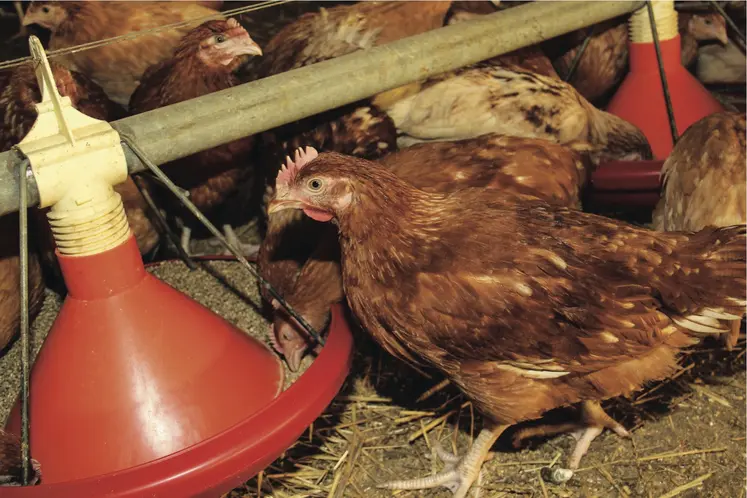
<svg viewBox="0 0 747 498">
<path fill-rule="evenodd" d="M 454 498 L 465 498 L 472 484 L 482 480 L 482 464 L 488 459 L 493 443 L 507 427 L 507 425 L 501 425 L 484 428 L 467 454 L 461 458 L 436 446 L 436 455 L 445 464 L 444 470 L 436 475 L 407 481 L 387 482 L 378 487 L 414 490 L 443 486 L 454 493 Z M 479 489 L 477 492 L 479 493 Z"/>
</svg>

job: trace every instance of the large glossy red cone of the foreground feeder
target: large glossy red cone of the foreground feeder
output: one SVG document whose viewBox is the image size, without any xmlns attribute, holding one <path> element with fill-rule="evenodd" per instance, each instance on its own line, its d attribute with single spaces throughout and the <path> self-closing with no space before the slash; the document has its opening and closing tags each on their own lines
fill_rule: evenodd
<svg viewBox="0 0 747 498">
<path fill-rule="evenodd" d="M 147 273 L 132 235 L 58 258 L 69 294 L 31 375 L 31 455 L 45 484 L 169 455 L 279 394 L 277 356 Z M 18 407 L 8 428 L 20 434 Z"/>
</svg>

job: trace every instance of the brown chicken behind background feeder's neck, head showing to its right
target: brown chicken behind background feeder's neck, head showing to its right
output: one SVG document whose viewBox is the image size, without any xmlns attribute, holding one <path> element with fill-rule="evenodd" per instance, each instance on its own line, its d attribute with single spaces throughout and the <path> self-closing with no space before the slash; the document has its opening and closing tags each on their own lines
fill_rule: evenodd
<svg viewBox="0 0 747 498">
<path fill-rule="evenodd" d="M 591 102 L 609 96 L 628 71 L 628 16 L 599 23 L 592 28 L 574 31 L 560 38 L 549 40 L 543 47 L 558 53 L 553 59 L 555 69 L 561 77 L 568 70 L 578 50 L 588 35 L 593 33 L 581 59 L 569 81 L 578 92 Z M 678 14 L 682 64 L 690 67 L 698 56 L 702 43 L 718 41 L 725 44 L 726 21 L 715 13 Z M 591 31 L 593 29 L 593 31 Z M 563 47 L 572 47 L 563 52 Z"/>
</svg>

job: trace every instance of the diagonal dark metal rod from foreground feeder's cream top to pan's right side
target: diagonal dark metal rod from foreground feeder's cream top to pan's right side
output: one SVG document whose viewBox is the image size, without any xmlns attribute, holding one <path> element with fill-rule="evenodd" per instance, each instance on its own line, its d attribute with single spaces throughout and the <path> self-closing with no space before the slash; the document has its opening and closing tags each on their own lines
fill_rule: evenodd
<svg viewBox="0 0 747 498">
<path fill-rule="evenodd" d="M 291 306 L 285 301 L 285 299 L 283 299 L 283 296 L 281 296 L 278 293 L 278 291 L 276 291 L 272 287 L 272 285 L 270 285 L 270 283 L 267 280 L 265 280 L 259 274 L 259 272 L 256 270 L 256 268 L 254 268 L 249 263 L 249 261 L 246 260 L 246 258 L 243 256 L 243 254 L 241 254 L 241 252 L 239 252 L 239 250 L 237 248 L 233 247 L 231 244 L 228 243 L 228 240 L 226 240 L 226 238 L 223 236 L 223 234 L 220 233 L 220 230 L 218 230 L 217 228 L 215 228 L 215 225 L 213 225 L 210 222 L 210 220 L 208 220 L 205 217 L 205 215 L 202 214 L 200 212 L 200 210 L 197 209 L 197 207 L 194 204 L 192 204 L 192 202 L 189 199 L 187 199 L 187 197 L 184 194 L 182 194 L 180 192 L 180 189 L 176 185 L 174 185 L 174 183 L 169 179 L 169 177 L 166 176 L 163 173 L 163 171 L 161 171 L 161 169 L 158 166 L 156 166 L 155 164 L 153 164 L 153 162 L 151 162 L 150 159 L 148 159 L 148 157 L 145 155 L 145 153 L 142 151 L 142 149 L 140 149 L 140 147 L 138 147 L 134 143 L 134 141 L 132 139 L 130 139 L 129 137 L 127 137 L 126 135 L 124 135 L 122 133 L 120 133 L 120 138 L 122 139 L 122 142 L 124 143 L 124 145 L 127 145 L 127 147 L 129 147 L 130 150 L 132 150 L 132 152 L 135 153 L 135 155 L 140 159 L 140 161 L 143 164 L 145 164 L 145 166 L 150 171 L 152 171 L 153 174 L 156 175 L 164 183 L 164 185 L 166 185 L 166 187 L 169 190 L 171 190 L 171 193 L 174 194 L 177 197 L 177 199 L 179 199 L 179 201 L 181 201 L 181 203 L 184 205 L 184 207 L 186 207 L 187 209 L 189 209 L 189 211 L 193 215 L 195 215 L 195 217 L 200 221 L 200 223 L 202 223 L 205 226 L 205 228 L 207 228 L 210 231 L 210 233 L 212 233 L 213 236 L 215 236 L 215 238 L 217 238 L 220 241 L 220 243 L 223 245 L 223 247 L 225 247 L 226 249 L 228 249 L 231 252 L 231 254 L 233 254 L 236 257 L 236 259 L 247 270 L 249 270 L 249 272 L 259 281 L 259 283 L 265 289 L 267 289 L 267 291 L 272 295 L 272 297 L 274 297 L 275 299 L 278 300 L 278 302 L 280 303 L 280 305 L 283 308 L 285 308 L 285 310 L 288 312 L 288 314 L 290 316 L 292 316 L 293 318 L 295 318 L 296 321 L 301 325 L 301 327 L 303 327 L 304 330 L 316 342 L 318 342 L 319 344 L 321 344 L 322 346 L 324 346 L 324 343 L 325 343 L 324 339 L 322 339 L 322 337 L 319 335 L 319 333 L 316 330 L 314 330 L 314 328 L 311 325 L 309 325 L 309 323 L 306 321 L 306 319 L 304 319 L 304 317 L 302 317 L 293 308 L 291 308 Z"/>
</svg>

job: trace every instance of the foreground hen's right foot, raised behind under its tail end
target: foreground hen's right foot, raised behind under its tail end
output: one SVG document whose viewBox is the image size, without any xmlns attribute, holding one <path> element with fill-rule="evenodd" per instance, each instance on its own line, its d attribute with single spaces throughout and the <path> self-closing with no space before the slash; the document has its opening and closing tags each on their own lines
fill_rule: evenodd
<svg viewBox="0 0 747 498">
<path fill-rule="evenodd" d="M 584 401 L 581 403 L 581 420 L 565 424 L 540 425 L 537 427 L 528 427 L 517 432 L 514 435 L 514 446 L 522 439 L 534 436 L 551 436 L 565 432 L 571 432 L 576 439 L 576 445 L 573 448 L 570 458 L 568 459 L 568 468 L 556 467 L 548 469 L 547 480 L 554 484 L 563 484 L 567 482 L 581 463 L 581 458 L 589 451 L 589 446 L 594 439 L 599 436 L 604 429 L 613 431 L 620 437 L 628 438 L 630 433 L 617 423 L 612 417 L 602 409 L 597 401 Z"/>
</svg>

